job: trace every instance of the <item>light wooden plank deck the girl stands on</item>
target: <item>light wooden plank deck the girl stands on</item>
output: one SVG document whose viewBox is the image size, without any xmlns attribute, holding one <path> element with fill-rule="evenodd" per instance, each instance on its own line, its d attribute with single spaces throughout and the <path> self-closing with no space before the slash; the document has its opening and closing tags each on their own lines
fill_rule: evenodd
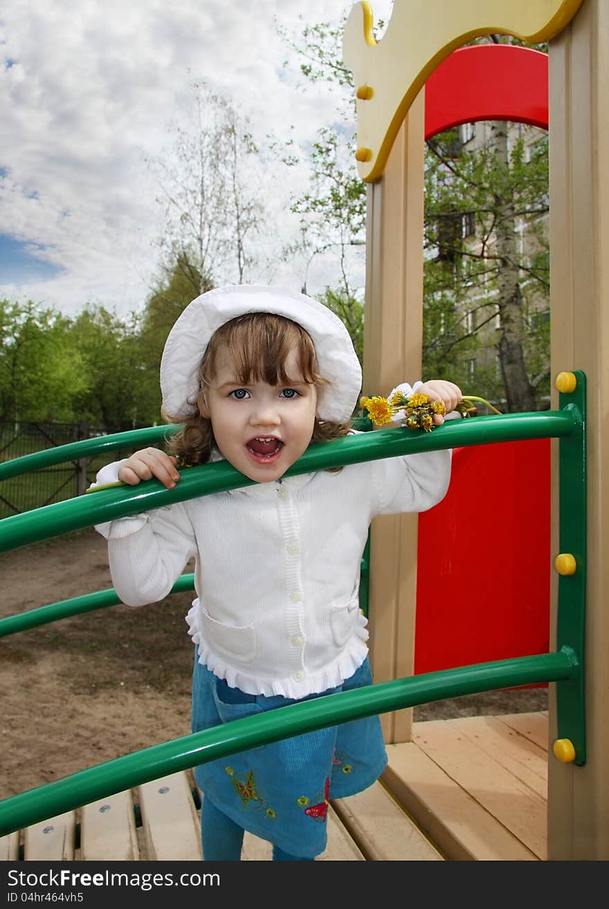
<svg viewBox="0 0 609 909">
<path fill-rule="evenodd" d="M 547 714 L 415 723 L 381 782 L 332 803 L 321 860 L 546 857 Z M 174 774 L 0 839 L 9 861 L 200 861 L 199 802 Z M 271 846 L 245 834 L 245 860 Z"/>
</svg>

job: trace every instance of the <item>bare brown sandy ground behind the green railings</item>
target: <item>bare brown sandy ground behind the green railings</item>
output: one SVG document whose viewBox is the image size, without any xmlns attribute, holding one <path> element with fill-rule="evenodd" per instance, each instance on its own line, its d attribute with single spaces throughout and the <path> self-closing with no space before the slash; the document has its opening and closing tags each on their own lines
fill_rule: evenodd
<svg viewBox="0 0 609 909">
<path fill-rule="evenodd" d="M 112 586 L 87 530 L 0 554 L 0 617 Z M 0 640 L 0 798 L 190 733 L 192 594 L 115 605 Z M 469 695 L 414 719 L 543 710 L 546 690 Z"/>
</svg>

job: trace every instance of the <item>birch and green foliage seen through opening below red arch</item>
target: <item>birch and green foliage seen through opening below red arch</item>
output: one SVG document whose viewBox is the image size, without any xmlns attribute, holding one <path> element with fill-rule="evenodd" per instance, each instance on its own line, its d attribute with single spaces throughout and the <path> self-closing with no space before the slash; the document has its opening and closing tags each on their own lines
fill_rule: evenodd
<svg viewBox="0 0 609 909">
<path fill-rule="evenodd" d="M 478 128 L 487 136 L 473 149 L 454 130 L 428 142 L 425 365 L 484 383 L 508 411 L 535 410 L 549 391 L 547 136 Z M 493 356 L 472 375 L 483 348 L 499 373 Z"/>
</svg>

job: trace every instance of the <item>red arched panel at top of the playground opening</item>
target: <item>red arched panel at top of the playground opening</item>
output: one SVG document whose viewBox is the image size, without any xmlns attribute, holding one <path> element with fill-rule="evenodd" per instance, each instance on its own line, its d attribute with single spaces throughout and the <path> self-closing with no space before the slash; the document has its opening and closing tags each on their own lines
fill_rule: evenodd
<svg viewBox="0 0 609 909">
<path fill-rule="evenodd" d="M 476 120 L 547 129 L 547 54 L 516 45 L 472 45 L 445 57 L 425 83 L 425 138 Z"/>
</svg>

